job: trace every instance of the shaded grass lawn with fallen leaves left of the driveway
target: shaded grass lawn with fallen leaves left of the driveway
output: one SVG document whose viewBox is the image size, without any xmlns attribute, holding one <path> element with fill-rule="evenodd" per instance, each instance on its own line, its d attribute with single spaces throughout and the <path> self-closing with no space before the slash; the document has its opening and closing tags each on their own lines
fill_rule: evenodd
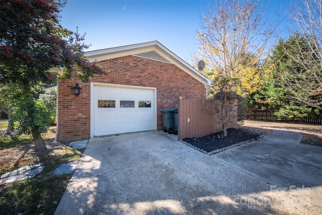
<svg viewBox="0 0 322 215">
<path fill-rule="evenodd" d="M 52 176 L 60 164 L 79 160 L 84 149 L 75 150 L 54 141 L 55 127 L 43 135 L 48 152 L 38 157 L 28 135 L 0 138 L 0 175 L 23 166 L 43 163 L 34 178 L 0 184 L 0 214 L 53 214 L 70 179 L 70 174 Z"/>
</svg>

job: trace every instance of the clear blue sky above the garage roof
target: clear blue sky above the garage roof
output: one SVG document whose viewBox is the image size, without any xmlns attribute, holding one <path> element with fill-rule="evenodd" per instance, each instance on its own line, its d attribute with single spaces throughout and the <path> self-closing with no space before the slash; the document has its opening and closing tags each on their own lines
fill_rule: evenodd
<svg viewBox="0 0 322 215">
<path fill-rule="evenodd" d="M 269 13 L 284 16 L 291 1 L 269 1 Z M 196 32 L 209 4 L 209 0 L 68 0 L 61 25 L 86 33 L 88 51 L 157 40 L 189 62 L 197 52 Z"/>
</svg>

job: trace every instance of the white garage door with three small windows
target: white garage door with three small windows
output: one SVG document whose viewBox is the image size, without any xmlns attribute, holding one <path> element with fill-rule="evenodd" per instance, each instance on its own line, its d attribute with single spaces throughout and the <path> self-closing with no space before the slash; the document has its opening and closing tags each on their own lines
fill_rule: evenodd
<svg viewBox="0 0 322 215">
<path fill-rule="evenodd" d="M 155 89 L 92 84 L 91 136 L 156 129 Z"/>
</svg>

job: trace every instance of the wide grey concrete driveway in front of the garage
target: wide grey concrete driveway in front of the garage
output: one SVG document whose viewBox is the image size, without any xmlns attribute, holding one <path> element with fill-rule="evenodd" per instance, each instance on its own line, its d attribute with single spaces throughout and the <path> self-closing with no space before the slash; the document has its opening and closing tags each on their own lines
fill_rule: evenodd
<svg viewBox="0 0 322 215">
<path fill-rule="evenodd" d="M 321 214 L 322 148 L 300 139 L 208 156 L 158 131 L 93 138 L 55 214 Z"/>
</svg>

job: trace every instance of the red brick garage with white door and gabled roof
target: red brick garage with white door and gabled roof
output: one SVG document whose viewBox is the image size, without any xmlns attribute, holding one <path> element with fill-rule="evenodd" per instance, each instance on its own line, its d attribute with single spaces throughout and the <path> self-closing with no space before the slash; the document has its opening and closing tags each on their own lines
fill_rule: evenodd
<svg viewBox="0 0 322 215">
<path fill-rule="evenodd" d="M 158 41 L 85 53 L 107 71 L 81 82 L 77 66 L 59 79 L 57 141 L 163 129 L 164 109 L 178 100 L 205 99 L 211 80 Z M 62 70 L 59 68 L 59 70 Z M 81 88 L 79 95 L 73 87 Z"/>
</svg>

